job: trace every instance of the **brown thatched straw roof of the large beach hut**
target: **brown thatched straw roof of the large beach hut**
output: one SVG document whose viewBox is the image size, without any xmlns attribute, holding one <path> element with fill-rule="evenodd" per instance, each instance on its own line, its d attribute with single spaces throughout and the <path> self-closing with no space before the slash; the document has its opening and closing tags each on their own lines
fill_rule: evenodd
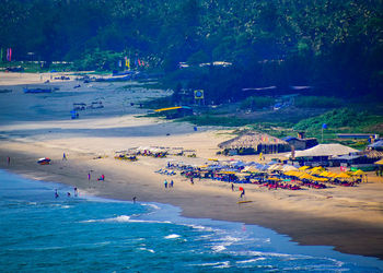
<svg viewBox="0 0 383 273">
<path fill-rule="evenodd" d="M 286 141 L 277 139 L 266 133 L 247 132 L 241 134 L 234 139 L 224 141 L 218 146 L 220 149 L 241 149 L 241 147 L 253 147 L 256 149 L 259 144 L 271 145 L 271 144 L 283 144 L 289 145 Z"/>
</svg>

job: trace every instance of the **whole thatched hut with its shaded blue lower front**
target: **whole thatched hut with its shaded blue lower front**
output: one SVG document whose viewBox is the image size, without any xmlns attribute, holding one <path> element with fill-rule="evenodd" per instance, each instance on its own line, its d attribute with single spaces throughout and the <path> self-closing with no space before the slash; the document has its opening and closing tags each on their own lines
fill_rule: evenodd
<svg viewBox="0 0 383 273">
<path fill-rule="evenodd" d="M 223 150 L 222 153 L 225 155 L 276 154 L 290 151 L 290 145 L 286 141 L 259 132 L 243 133 L 220 143 L 218 146 Z"/>
</svg>

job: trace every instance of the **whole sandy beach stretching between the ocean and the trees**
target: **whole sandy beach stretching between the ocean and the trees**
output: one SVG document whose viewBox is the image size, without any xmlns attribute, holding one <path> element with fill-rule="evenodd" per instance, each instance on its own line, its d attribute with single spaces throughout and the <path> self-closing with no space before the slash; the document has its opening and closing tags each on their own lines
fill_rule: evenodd
<svg viewBox="0 0 383 273">
<path fill-rule="evenodd" d="M 57 74 L 60 75 L 60 74 Z M 53 79 L 56 74 L 53 75 Z M 0 168 L 31 178 L 78 187 L 80 192 L 112 199 L 154 201 L 182 207 L 188 217 L 207 217 L 256 224 L 288 235 L 302 245 L 334 246 L 346 253 L 383 259 L 383 179 L 369 173 L 358 187 L 334 186 L 301 191 L 267 190 L 246 185 L 246 199 L 229 183 L 196 180 L 154 173 L 169 161 L 205 164 L 208 158 L 256 161 L 257 156 L 218 156 L 218 143 L 232 138 L 232 130 L 138 117 L 144 98 L 169 94 L 147 90 L 137 83 L 91 83 L 50 81 L 60 90 L 54 94 L 23 94 L 26 85 L 44 85 L 50 74 L 0 73 Z M 81 87 L 73 88 L 81 84 Z M 70 119 L 73 103 L 102 100 L 103 109 L 85 110 Z M 134 104 L 134 105 L 131 105 Z M 196 150 L 197 157 L 139 157 L 137 162 L 114 158 L 116 151 L 138 146 Z M 68 161 L 62 161 L 66 153 Z M 7 157 L 11 164 L 7 164 Z M 36 164 L 39 157 L 50 165 Z M 101 157 L 101 158 L 100 158 Z M 275 155 L 274 155 L 275 157 Z M 334 169 L 339 173 L 339 169 Z M 91 174 L 91 180 L 88 174 Z M 105 181 L 97 177 L 105 175 Z M 174 188 L 164 189 L 163 180 Z"/>
</svg>

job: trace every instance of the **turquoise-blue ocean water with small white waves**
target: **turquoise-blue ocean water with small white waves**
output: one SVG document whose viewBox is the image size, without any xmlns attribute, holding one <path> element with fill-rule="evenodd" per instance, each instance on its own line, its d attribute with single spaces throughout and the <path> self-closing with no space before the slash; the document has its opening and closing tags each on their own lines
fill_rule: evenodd
<svg viewBox="0 0 383 273">
<path fill-rule="evenodd" d="M 383 262 L 255 225 L 186 218 L 166 204 L 73 197 L 0 170 L 0 271 L 383 272 Z"/>
</svg>

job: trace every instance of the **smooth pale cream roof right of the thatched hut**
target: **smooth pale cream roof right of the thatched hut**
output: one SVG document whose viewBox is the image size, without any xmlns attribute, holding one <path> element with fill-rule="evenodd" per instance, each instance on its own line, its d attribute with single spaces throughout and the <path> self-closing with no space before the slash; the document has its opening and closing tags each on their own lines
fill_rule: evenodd
<svg viewBox="0 0 383 273">
<path fill-rule="evenodd" d="M 348 147 L 341 144 L 318 144 L 307 150 L 295 152 L 295 157 L 312 157 L 312 156 L 336 156 L 345 155 L 350 153 L 359 152 L 356 149 Z M 291 153 L 287 154 L 288 157 L 291 156 Z"/>
</svg>

